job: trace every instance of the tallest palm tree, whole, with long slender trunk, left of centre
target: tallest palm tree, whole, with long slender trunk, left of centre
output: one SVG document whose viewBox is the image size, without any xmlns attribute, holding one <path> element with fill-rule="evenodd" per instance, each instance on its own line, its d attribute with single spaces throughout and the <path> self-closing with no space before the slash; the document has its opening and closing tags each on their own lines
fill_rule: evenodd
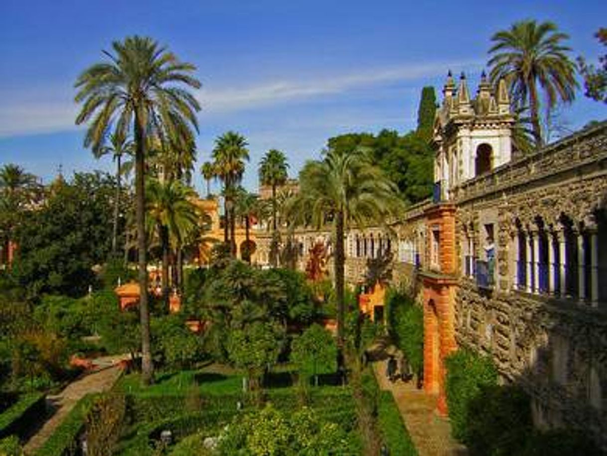
<svg viewBox="0 0 607 456">
<path fill-rule="evenodd" d="M 110 124 L 125 137 L 133 131 L 135 145 L 135 200 L 141 318 L 141 376 L 152 383 L 148 271 L 145 237 L 144 170 L 151 135 L 160 138 L 193 137 L 198 131 L 198 101 L 183 86 L 198 89 L 195 66 L 178 60 L 151 38 L 129 36 L 114 41 L 109 61 L 93 64 L 78 77 L 76 103 L 83 103 L 76 124 L 89 122 L 84 146 L 97 154 L 104 146 Z"/>
</svg>

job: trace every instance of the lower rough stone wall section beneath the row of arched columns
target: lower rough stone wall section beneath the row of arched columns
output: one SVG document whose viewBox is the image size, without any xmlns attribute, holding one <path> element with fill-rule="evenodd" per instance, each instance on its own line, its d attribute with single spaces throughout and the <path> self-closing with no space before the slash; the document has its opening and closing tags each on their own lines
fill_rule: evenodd
<svg viewBox="0 0 607 456">
<path fill-rule="evenodd" d="M 459 347 L 492 356 L 521 384 L 539 426 L 592 432 L 607 446 L 607 314 L 517 291 L 483 294 L 462 279 L 455 298 Z"/>
</svg>

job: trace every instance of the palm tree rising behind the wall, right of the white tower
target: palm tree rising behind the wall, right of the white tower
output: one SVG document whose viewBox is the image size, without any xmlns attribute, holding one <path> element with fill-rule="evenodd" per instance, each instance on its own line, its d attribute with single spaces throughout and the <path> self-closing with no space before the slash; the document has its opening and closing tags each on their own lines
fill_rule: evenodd
<svg viewBox="0 0 607 456">
<path fill-rule="evenodd" d="M 569 103 L 575 98 L 575 65 L 568 56 L 571 48 L 563 45 L 568 38 L 552 22 L 532 20 L 515 22 L 491 38 L 495 43 L 489 49 L 491 79 L 497 83 L 505 78 L 515 107 L 529 106 L 537 146 L 542 144 L 538 83 L 544 90 L 546 111 L 559 100 Z"/>
</svg>

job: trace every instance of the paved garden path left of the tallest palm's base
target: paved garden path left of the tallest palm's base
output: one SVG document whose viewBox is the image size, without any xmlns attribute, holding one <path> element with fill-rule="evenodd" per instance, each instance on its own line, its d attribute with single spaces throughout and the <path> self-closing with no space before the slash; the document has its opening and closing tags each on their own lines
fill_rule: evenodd
<svg viewBox="0 0 607 456">
<path fill-rule="evenodd" d="M 54 413 L 24 446 L 26 455 L 33 455 L 55 432 L 67 414 L 85 395 L 109 390 L 120 378 L 122 368 L 118 364 L 124 356 L 106 356 L 93 360 L 97 368 L 67 385 L 59 394 L 47 396 L 47 410 Z"/>
</svg>

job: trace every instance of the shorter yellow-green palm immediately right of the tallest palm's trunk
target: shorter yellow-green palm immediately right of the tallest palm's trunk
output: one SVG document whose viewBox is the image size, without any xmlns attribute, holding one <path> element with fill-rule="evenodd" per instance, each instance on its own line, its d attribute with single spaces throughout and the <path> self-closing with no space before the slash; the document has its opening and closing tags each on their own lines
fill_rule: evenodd
<svg viewBox="0 0 607 456">
<path fill-rule="evenodd" d="M 146 211 L 148 233 L 154 231 L 160 240 L 162 251 L 161 287 L 163 297 L 168 300 L 169 291 L 169 254 L 174 248 L 175 256 L 180 258 L 184 239 L 198 225 L 198 209 L 192 203 L 194 191 L 178 180 L 160 182 L 149 179 L 146 185 Z M 177 262 L 177 287 L 181 287 L 181 264 Z"/>
</svg>

